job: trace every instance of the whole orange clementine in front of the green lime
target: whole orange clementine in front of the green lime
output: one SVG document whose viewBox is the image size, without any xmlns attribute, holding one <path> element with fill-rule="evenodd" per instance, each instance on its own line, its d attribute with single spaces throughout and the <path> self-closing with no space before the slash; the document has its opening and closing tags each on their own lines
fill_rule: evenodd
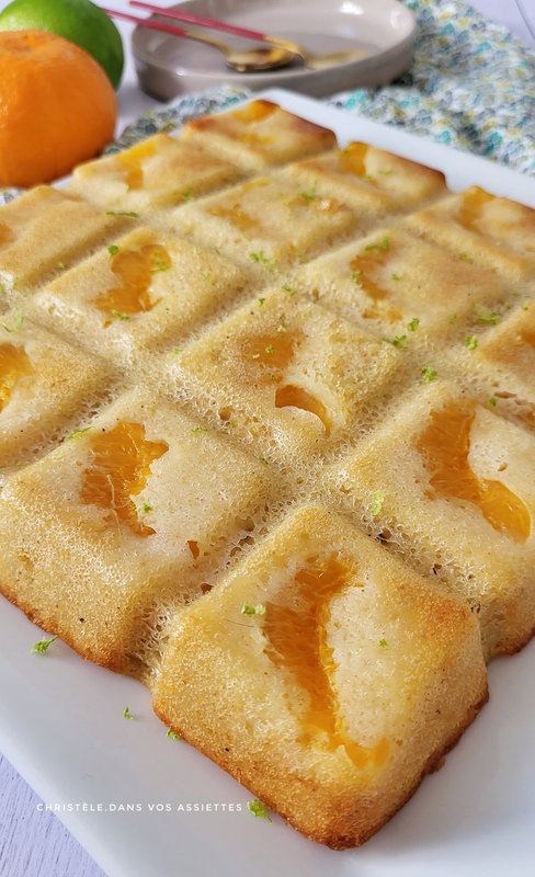
<svg viewBox="0 0 535 877">
<path fill-rule="evenodd" d="M 45 31 L 0 32 L 0 185 L 69 173 L 114 133 L 117 103 L 102 67 Z"/>
</svg>

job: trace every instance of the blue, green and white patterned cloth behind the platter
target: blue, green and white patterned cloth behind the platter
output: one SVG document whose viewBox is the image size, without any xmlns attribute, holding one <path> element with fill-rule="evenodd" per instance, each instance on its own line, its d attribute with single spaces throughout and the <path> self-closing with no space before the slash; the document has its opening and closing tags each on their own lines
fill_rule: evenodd
<svg viewBox="0 0 535 877">
<path fill-rule="evenodd" d="M 410 70 L 326 103 L 535 174 L 535 53 L 462 0 L 405 0 L 419 33 Z M 221 86 L 177 98 L 129 125 L 107 152 L 250 96 Z M 0 190 L 0 203 L 18 190 Z"/>
</svg>

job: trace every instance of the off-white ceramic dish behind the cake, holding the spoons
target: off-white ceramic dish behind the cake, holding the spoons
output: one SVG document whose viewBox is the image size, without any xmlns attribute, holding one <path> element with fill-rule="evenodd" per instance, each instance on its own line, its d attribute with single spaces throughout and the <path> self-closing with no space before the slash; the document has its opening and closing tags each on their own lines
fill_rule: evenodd
<svg viewBox="0 0 535 877">
<path fill-rule="evenodd" d="M 310 70 L 296 62 L 270 72 L 237 73 L 225 66 L 223 55 L 214 48 L 136 27 L 132 48 L 141 88 L 162 100 L 223 81 L 253 90 L 288 88 L 321 98 L 356 86 L 389 82 L 412 60 L 416 20 L 397 0 L 187 0 L 180 3 L 180 9 L 276 34 L 317 54 L 362 48 L 366 55 L 323 70 Z M 236 48 L 254 45 L 205 29 L 203 33 Z"/>
</svg>

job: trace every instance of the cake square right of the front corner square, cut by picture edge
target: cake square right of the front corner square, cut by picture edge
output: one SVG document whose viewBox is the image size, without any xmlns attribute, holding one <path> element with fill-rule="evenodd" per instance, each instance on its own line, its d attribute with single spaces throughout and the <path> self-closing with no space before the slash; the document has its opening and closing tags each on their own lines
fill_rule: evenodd
<svg viewBox="0 0 535 877">
<path fill-rule="evenodd" d="M 436 379 L 331 476 L 371 534 L 467 601 L 490 658 L 535 630 L 534 467 L 534 435 Z"/>
</svg>

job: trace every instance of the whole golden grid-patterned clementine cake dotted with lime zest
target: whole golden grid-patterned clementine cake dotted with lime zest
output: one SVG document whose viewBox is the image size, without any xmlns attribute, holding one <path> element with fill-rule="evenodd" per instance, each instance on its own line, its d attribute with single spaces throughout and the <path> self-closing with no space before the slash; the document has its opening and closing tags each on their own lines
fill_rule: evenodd
<svg viewBox="0 0 535 877">
<path fill-rule="evenodd" d="M 0 210 L 0 588 L 334 847 L 535 627 L 533 217 L 264 101 Z"/>
</svg>

